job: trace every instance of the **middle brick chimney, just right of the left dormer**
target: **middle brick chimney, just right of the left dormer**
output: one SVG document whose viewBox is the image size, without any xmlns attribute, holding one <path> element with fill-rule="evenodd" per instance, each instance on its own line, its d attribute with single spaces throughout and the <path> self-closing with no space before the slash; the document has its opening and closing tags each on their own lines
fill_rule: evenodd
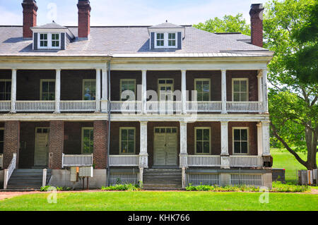
<svg viewBox="0 0 318 225">
<path fill-rule="evenodd" d="M 78 0 L 78 38 L 88 39 L 90 34 L 90 1 Z"/>
</svg>

